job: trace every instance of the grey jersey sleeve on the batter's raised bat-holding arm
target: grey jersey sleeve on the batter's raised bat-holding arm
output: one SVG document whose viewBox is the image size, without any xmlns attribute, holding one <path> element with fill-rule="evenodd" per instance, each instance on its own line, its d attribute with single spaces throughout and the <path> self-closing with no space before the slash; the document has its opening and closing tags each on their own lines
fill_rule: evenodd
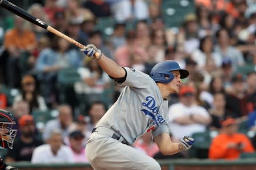
<svg viewBox="0 0 256 170">
<path fill-rule="evenodd" d="M 146 73 L 128 67 L 124 67 L 124 69 L 126 70 L 126 79 L 123 82 L 117 82 L 119 86 L 147 88 L 148 84 L 153 81 Z"/>
</svg>

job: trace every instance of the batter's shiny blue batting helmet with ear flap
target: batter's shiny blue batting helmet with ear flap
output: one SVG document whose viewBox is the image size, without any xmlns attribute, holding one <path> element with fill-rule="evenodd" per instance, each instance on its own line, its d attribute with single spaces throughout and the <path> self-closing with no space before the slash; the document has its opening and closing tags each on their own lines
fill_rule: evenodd
<svg viewBox="0 0 256 170">
<path fill-rule="evenodd" d="M 188 71 L 181 69 L 177 61 L 166 60 L 156 64 L 151 72 L 150 76 L 155 82 L 168 83 L 174 80 L 174 74 L 171 71 L 180 71 L 180 78 L 188 77 Z"/>
</svg>

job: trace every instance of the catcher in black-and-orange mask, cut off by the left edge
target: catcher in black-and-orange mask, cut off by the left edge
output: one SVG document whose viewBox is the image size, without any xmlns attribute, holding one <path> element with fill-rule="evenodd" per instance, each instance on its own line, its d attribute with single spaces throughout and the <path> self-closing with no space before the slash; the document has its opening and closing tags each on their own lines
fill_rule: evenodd
<svg viewBox="0 0 256 170">
<path fill-rule="evenodd" d="M 14 117 L 6 110 L 0 109 L 0 146 L 3 148 L 13 148 L 14 138 L 17 130 L 12 127 L 15 125 Z M 18 170 L 10 165 L 6 165 L 0 158 L 0 170 Z"/>
</svg>

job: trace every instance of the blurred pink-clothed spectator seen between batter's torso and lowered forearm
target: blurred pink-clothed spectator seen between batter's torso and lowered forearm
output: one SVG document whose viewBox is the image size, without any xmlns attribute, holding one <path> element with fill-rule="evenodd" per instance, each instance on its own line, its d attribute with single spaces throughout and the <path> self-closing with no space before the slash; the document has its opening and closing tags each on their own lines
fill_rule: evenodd
<svg viewBox="0 0 256 170">
<path fill-rule="evenodd" d="M 147 132 L 141 138 L 137 139 L 134 143 L 134 148 L 141 150 L 144 154 L 153 157 L 159 152 L 159 148 L 156 143 L 152 140 L 151 132 Z"/>
</svg>

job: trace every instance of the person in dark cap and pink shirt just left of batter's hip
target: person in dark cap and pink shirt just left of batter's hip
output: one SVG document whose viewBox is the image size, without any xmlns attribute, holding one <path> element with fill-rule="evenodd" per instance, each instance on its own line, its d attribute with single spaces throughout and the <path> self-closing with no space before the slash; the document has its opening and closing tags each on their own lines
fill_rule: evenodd
<svg viewBox="0 0 256 170">
<path fill-rule="evenodd" d="M 81 131 L 72 131 L 69 134 L 69 147 L 72 150 L 75 163 L 88 163 L 85 155 L 84 134 Z"/>
</svg>

